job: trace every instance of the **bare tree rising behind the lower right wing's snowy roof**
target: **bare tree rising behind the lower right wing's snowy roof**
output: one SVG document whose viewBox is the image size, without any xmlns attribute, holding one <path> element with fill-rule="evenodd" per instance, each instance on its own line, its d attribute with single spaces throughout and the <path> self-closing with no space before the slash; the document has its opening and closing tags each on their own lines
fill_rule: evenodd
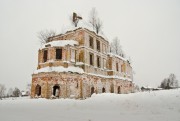
<svg viewBox="0 0 180 121">
<path fill-rule="evenodd" d="M 124 52 L 122 51 L 122 46 L 118 37 L 115 37 L 111 42 L 111 52 L 122 57 L 125 56 Z"/>
</svg>

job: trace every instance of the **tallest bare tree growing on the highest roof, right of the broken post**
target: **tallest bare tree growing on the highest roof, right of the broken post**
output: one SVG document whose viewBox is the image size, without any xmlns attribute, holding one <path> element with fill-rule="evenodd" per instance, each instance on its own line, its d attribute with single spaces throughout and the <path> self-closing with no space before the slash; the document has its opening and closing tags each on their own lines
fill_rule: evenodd
<svg viewBox="0 0 180 121">
<path fill-rule="evenodd" d="M 96 33 L 98 34 L 103 27 L 102 21 L 98 18 L 97 10 L 96 8 L 92 8 L 89 14 L 89 23 L 92 25 L 93 29 L 96 30 Z"/>
</svg>

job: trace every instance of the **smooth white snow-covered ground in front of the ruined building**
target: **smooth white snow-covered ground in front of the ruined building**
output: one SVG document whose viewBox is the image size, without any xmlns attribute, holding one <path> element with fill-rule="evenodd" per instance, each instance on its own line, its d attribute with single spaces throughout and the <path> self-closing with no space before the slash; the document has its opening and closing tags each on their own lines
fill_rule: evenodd
<svg viewBox="0 0 180 121">
<path fill-rule="evenodd" d="M 180 89 L 94 94 L 86 100 L 0 100 L 0 121 L 180 121 Z"/>
</svg>

